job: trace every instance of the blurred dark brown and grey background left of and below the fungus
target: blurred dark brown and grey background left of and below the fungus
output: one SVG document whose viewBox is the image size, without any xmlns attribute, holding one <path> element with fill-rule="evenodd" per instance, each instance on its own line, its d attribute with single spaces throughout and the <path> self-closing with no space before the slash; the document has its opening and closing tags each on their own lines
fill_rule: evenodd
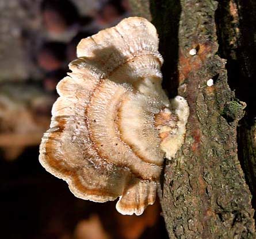
<svg viewBox="0 0 256 239">
<path fill-rule="evenodd" d="M 122 216 L 116 202 L 74 197 L 38 160 L 78 42 L 129 15 L 128 0 L 0 2 L 1 238 L 168 238 L 158 202 Z"/>
</svg>

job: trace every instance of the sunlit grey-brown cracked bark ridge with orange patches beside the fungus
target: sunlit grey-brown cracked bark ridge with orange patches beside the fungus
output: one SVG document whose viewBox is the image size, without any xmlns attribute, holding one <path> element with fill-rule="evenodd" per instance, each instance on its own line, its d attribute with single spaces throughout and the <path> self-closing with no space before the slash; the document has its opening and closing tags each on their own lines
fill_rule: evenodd
<svg viewBox="0 0 256 239">
<path fill-rule="evenodd" d="M 178 53 L 178 92 L 190 106 L 184 146 L 167 162 L 159 190 L 170 238 L 255 238 L 251 194 L 236 144 L 244 105 L 227 83 L 226 60 L 217 56 L 216 9 L 217 2 L 210 0 L 151 1 L 161 54 L 168 64 L 175 62 L 166 59 L 169 49 Z M 166 19 L 176 27 L 171 31 L 177 30 L 178 44 L 166 41 Z M 163 68 L 165 81 L 170 81 L 168 67 Z"/>
</svg>

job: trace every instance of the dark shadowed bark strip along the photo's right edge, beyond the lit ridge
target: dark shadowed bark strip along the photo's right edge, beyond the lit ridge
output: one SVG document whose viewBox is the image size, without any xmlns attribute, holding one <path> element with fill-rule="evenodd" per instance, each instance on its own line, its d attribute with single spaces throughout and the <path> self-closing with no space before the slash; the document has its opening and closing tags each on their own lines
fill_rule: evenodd
<svg viewBox="0 0 256 239">
<path fill-rule="evenodd" d="M 227 59 L 228 82 L 246 102 L 246 115 L 238 127 L 238 157 L 256 208 L 256 2 L 225 0 L 216 11 L 219 53 Z"/>
</svg>

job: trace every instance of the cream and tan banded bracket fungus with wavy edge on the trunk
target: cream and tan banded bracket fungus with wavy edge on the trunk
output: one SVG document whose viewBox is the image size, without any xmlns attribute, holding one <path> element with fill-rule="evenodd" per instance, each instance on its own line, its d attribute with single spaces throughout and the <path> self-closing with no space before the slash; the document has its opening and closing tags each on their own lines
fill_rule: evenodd
<svg viewBox="0 0 256 239">
<path fill-rule="evenodd" d="M 155 202 L 163 159 L 184 140 L 188 103 L 161 87 L 158 41 L 139 17 L 81 40 L 40 145 L 40 163 L 76 197 L 119 197 L 121 214 L 140 215 Z"/>
</svg>

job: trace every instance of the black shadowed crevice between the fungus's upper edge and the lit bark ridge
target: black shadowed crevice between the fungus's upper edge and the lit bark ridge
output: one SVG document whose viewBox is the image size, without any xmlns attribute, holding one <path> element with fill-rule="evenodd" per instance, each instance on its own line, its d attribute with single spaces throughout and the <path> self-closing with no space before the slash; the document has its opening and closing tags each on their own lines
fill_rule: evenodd
<svg viewBox="0 0 256 239">
<path fill-rule="evenodd" d="M 179 54 L 179 20 L 181 17 L 181 3 L 179 0 L 150 1 L 152 23 L 158 29 L 159 52 L 165 62 L 162 66 L 163 88 L 170 98 L 178 95 L 178 54 Z M 159 17 L 159 14 L 162 17 Z"/>
</svg>

